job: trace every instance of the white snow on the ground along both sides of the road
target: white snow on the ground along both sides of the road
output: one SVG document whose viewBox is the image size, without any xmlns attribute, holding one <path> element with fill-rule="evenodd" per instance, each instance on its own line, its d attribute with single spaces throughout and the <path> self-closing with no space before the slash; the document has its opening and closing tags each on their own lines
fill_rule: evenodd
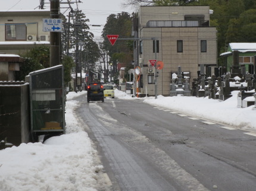
<svg viewBox="0 0 256 191">
<path fill-rule="evenodd" d="M 43 144 L 21 144 L 0 151 L 0 190 L 96 190 L 95 171 L 103 167 L 93 163 L 97 152 L 74 114 L 79 101 L 73 98 L 85 93 L 67 94 L 65 135 L 49 138 Z M 236 107 L 237 94 L 233 91 L 233 97 L 226 101 L 184 96 L 155 99 L 133 98 L 115 90 L 115 98 L 124 101 L 141 99 L 153 106 L 256 132 L 256 110 L 252 110 L 254 106 Z"/>
</svg>

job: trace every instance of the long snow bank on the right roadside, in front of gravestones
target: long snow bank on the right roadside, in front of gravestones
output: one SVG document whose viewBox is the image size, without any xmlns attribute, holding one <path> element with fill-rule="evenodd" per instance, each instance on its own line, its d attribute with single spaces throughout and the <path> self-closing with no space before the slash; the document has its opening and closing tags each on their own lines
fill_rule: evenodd
<svg viewBox="0 0 256 191">
<path fill-rule="evenodd" d="M 226 101 L 209 99 L 208 97 L 163 97 L 156 100 L 144 100 L 144 103 L 173 109 L 190 116 L 213 120 L 236 128 L 256 129 L 256 110 L 252 107 L 238 108 L 237 97 L 239 91 L 233 91 L 232 97 Z"/>
</svg>

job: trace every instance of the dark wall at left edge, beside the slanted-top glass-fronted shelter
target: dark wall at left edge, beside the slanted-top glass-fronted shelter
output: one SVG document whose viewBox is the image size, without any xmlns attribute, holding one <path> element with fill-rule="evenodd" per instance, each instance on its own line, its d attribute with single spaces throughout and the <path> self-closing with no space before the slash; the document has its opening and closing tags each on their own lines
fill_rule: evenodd
<svg viewBox="0 0 256 191">
<path fill-rule="evenodd" d="M 13 145 L 30 142 L 29 84 L 0 83 L 0 141 Z"/>
</svg>

